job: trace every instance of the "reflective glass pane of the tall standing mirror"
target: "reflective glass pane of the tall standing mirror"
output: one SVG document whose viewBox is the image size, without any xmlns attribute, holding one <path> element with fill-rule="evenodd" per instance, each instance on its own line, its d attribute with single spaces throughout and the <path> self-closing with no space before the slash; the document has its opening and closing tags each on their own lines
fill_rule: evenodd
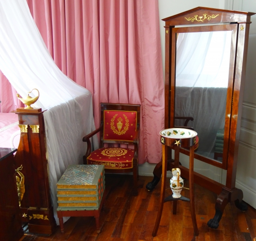
<svg viewBox="0 0 256 241">
<path fill-rule="evenodd" d="M 222 162 L 232 31 L 177 33 L 175 126 L 198 133 L 196 153 Z"/>
</svg>

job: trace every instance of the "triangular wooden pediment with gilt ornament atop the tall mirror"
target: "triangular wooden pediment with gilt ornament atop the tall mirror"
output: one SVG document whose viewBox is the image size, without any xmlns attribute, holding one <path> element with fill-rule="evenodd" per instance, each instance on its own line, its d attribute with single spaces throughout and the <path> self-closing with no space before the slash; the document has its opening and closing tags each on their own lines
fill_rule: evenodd
<svg viewBox="0 0 256 241">
<path fill-rule="evenodd" d="M 251 12 L 197 7 L 171 17 L 166 17 L 162 20 L 169 26 L 250 22 L 250 16 L 253 14 L 254 13 Z"/>
</svg>

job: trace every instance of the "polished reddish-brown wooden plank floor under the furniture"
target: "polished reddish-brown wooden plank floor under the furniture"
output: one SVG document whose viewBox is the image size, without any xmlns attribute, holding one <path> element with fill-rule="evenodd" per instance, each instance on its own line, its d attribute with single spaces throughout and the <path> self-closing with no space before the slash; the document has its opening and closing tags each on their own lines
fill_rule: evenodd
<svg viewBox="0 0 256 241">
<path fill-rule="evenodd" d="M 234 204 L 228 204 L 218 229 L 210 229 L 207 221 L 215 214 L 216 195 L 195 185 L 199 236 L 194 236 L 189 203 L 179 201 L 177 215 L 172 215 L 172 203 L 164 204 L 160 227 L 153 238 L 160 185 L 148 192 L 145 185 L 151 179 L 139 177 L 139 194 L 135 197 L 131 195 L 132 176 L 106 174 L 107 196 L 100 217 L 100 234 L 96 232 L 94 218 L 73 217 L 64 224 L 64 235 L 58 226 L 50 236 L 24 235 L 20 241 L 253 241 L 256 237 L 256 210 L 249 205 L 247 212 L 241 212 Z M 185 186 L 188 187 L 186 180 Z M 167 185 L 166 189 L 166 195 L 170 195 Z M 189 197 L 188 190 L 182 192 Z"/>
</svg>

